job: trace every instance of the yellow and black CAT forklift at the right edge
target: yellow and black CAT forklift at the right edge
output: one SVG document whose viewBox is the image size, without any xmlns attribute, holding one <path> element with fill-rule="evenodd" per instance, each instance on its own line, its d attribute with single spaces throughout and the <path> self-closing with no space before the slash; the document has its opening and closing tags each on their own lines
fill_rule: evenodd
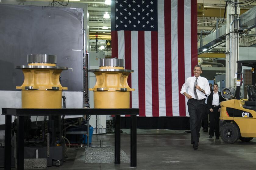
<svg viewBox="0 0 256 170">
<path fill-rule="evenodd" d="M 256 60 L 237 61 L 237 64 L 236 90 L 229 87 L 221 92 L 223 98 L 229 99 L 220 104 L 220 137 L 225 143 L 238 139 L 251 141 L 256 137 Z M 251 68 L 251 84 L 246 86 L 248 99 L 240 97 L 244 67 Z"/>
</svg>

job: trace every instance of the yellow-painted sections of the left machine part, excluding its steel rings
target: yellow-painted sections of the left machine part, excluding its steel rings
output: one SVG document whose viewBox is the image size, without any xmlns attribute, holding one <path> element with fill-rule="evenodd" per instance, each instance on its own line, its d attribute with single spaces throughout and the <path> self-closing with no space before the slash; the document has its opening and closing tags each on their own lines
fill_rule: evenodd
<svg viewBox="0 0 256 170">
<path fill-rule="evenodd" d="M 30 63 L 36 66 L 56 66 L 56 64 Z M 24 82 L 16 89 L 21 89 L 22 108 L 61 108 L 62 87 L 59 76 L 62 70 L 59 69 L 22 69 Z M 26 87 L 33 87 L 27 90 Z M 58 88 L 52 90 L 52 88 Z"/>
</svg>

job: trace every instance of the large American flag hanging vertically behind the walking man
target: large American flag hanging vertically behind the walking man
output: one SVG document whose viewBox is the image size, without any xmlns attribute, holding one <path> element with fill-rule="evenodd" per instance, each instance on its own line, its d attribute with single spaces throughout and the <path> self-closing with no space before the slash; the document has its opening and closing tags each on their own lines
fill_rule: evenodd
<svg viewBox="0 0 256 170">
<path fill-rule="evenodd" d="M 197 65 L 197 1 L 112 1 L 111 29 L 112 57 L 134 70 L 130 107 L 139 116 L 188 116 L 180 90 Z"/>
</svg>

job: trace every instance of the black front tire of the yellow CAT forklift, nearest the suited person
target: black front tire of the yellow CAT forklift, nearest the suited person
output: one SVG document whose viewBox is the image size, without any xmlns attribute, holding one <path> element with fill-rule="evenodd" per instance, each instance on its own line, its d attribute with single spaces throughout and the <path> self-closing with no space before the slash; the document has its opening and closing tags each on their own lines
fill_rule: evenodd
<svg viewBox="0 0 256 170">
<path fill-rule="evenodd" d="M 220 136 L 224 143 L 235 143 L 240 137 L 240 131 L 236 124 L 227 123 L 221 127 Z"/>
</svg>

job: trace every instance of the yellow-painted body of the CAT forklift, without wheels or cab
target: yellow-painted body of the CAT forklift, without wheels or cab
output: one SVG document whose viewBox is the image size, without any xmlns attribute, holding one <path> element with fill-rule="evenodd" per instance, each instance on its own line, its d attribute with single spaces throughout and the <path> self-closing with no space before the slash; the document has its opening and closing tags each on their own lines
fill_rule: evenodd
<svg viewBox="0 0 256 170">
<path fill-rule="evenodd" d="M 243 99 L 247 100 L 247 99 Z M 232 99 L 228 101 L 221 102 L 221 113 L 220 113 L 220 120 L 226 120 L 226 121 L 234 121 L 239 129 L 242 137 L 256 137 L 256 111 L 245 109 L 243 107 L 244 101 L 243 100 L 237 100 Z M 242 115 L 242 113 L 250 113 L 252 117 L 236 117 L 234 115 L 233 117 L 228 117 L 226 109 L 228 108 L 234 108 L 236 110 L 239 110 L 239 113 Z M 235 112 L 235 110 L 234 110 Z M 239 115 L 240 115 L 239 114 Z"/>
</svg>

